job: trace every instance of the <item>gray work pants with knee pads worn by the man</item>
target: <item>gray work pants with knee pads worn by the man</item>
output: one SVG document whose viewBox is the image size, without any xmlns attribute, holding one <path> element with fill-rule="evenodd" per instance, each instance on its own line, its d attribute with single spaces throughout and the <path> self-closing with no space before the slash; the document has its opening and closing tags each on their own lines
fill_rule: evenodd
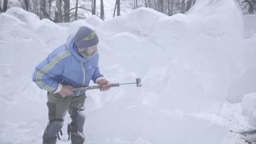
<svg viewBox="0 0 256 144">
<path fill-rule="evenodd" d="M 44 130 L 43 144 L 56 143 L 56 135 L 62 128 L 67 111 L 72 118 L 72 123 L 70 124 L 72 144 L 83 144 L 85 139 L 83 134 L 85 94 L 66 98 L 62 98 L 60 94 L 50 92 L 47 95 L 48 101 L 46 104 L 49 110 L 49 122 Z"/>
</svg>

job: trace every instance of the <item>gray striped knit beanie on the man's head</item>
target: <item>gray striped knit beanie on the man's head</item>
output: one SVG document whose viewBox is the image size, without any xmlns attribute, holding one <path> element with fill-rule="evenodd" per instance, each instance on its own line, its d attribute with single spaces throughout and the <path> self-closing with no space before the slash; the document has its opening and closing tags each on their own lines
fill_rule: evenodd
<svg viewBox="0 0 256 144">
<path fill-rule="evenodd" d="M 98 44 L 96 31 L 89 27 L 80 27 L 74 35 L 74 43 L 78 48 L 86 48 Z"/>
</svg>

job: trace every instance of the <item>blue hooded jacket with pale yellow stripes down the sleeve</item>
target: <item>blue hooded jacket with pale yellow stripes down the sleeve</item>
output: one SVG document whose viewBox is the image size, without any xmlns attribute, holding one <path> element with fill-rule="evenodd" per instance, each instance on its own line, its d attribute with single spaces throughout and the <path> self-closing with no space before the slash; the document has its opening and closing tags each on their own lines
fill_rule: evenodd
<svg viewBox="0 0 256 144">
<path fill-rule="evenodd" d="M 73 87 L 87 87 L 90 80 L 103 77 L 98 68 L 98 53 L 91 58 L 78 55 L 74 44 L 74 36 L 68 37 L 67 43 L 51 52 L 40 62 L 34 73 L 33 81 L 37 86 L 49 92 L 55 92 L 59 83 Z M 74 92 L 71 96 L 84 94 L 85 91 Z"/>
</svg>

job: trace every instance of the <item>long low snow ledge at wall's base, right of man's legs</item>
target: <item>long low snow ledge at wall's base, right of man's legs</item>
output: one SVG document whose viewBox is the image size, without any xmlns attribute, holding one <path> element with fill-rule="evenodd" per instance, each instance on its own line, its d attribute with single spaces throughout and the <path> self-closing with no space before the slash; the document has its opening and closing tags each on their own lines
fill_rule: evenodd
<svg viewBox="0 0 256 144">
<path fill-rule="evenodd" d="M 119 139 L 141 140 L 143 144 L 216 144 L 222 143 L 227 132 L 222 124 L 194 116 L 120 105 L 90 112 L 84 129 L 90 143 L 115 143 Z"/>
</svg>

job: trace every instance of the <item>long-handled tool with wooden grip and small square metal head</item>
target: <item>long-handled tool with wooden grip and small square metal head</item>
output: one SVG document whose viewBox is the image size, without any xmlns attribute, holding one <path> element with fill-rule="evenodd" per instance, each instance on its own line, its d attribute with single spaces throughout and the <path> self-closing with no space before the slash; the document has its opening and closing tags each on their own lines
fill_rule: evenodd
<svg viewBox="0 0 256 144">
<path fill-rule="evenodd" d="M 130 84 L 135 84 L 137 85 L 137 87 L 141 87 L 141 78 L 136 79 L 136 82 L 132 82 L 132 83 L 110 83 L 109 87 L 119 87 L 120 85 L 130 85 Z M 87 91 L 89 89 L 98 89 L 101 88 L 101 85 L 98 86 L 89 86 L 89 87 L 77 87 L 77 88 L 71 88 L 71 91 L 73 92 L 78 92 L 78 91 Z"/>
</svg>

